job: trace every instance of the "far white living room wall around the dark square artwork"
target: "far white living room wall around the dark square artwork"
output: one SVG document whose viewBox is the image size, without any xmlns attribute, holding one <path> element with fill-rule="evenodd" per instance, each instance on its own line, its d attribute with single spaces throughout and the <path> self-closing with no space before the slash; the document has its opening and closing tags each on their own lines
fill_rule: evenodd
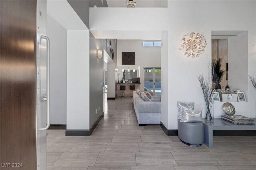
<svg viewBox="0 0 256 170">
<path fill-rule="evenodd" d="M 135 52 L 135 65 L 140 66 L 140 90 L 144 90 L 143 66 L 161 66 L 161 47 L 143 47 L 142 40 L 118 40 L 118 65 L 122 65 L 122 52 Z"/>
</svg>

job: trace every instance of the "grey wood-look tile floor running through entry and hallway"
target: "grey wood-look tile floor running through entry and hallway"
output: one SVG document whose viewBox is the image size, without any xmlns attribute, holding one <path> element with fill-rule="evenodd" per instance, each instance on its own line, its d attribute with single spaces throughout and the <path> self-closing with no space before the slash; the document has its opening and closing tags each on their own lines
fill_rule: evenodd
<svg viewBox="0 0 256 170">
<path fill-rule="evenodd" d="M 48 170 L 256 170 L 256 137 L 214 137 L 214 147 L 189 147 L 160 125 L 139 127 L 132 98 L 104 102 L 90 137 L 47 131 Z"/>
</svg>

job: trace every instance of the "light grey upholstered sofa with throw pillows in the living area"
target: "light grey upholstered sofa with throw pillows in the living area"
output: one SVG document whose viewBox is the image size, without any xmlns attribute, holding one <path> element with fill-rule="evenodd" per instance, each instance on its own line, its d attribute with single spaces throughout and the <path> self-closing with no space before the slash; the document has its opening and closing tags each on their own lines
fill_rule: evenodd
<svg viewBox="0 0 256 170">
<path fill-rule="evenodd" d="M 142 91 L 145 92 L 145 91 Z M 150 92 L 152 94 L 152 92 Z M 161 121 L 161 97 L 152 96 L 150 101 L 144 101 L 139 94 L 132 92 L 133 106 L 140 126 L 146 124 L 160 124 Z M 150 97 L 149 97 L 150 98 Z M 157 102 L 154 102 L 157 101 Z"/>
</svg>

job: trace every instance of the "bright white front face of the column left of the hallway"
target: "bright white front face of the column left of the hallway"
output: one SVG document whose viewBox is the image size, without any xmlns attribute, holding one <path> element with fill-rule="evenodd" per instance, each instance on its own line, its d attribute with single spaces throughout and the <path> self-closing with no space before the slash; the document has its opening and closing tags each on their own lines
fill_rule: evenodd
<svg viewBox="0 0 256 170">
<path fill-rule="evenodd" d="M 69 130 L 89 129 L 89 36 L 89 31 L 68 30 L 67 129 Z"/>
</svg>

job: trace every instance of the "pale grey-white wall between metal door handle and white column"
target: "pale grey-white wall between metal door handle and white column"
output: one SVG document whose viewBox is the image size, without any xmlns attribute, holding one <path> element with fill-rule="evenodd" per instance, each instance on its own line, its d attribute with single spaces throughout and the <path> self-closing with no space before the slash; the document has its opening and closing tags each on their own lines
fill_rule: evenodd
<svg viewBox="0 0 256 170">
<path fill-rule="evenodd" d="M 50 124 L 66 124 L 67 30 L 47 15 L 50 39 Z"/>
</svg>

